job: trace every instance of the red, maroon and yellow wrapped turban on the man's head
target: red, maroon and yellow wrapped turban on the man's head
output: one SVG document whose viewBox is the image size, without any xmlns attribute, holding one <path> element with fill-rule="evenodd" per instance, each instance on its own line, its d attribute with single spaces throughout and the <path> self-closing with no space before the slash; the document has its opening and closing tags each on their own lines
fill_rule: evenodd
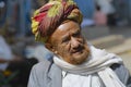
<svg viewBox="0 0 131 87">
<path fill-rule="evenodd" d="M 50 0 L 36 10 L 32 17 L 32 32 L 35 40 L 46 42 L 56 28 L 66 20 L 81 24 L 82 14 L 72 0 Z"/>
</svg>

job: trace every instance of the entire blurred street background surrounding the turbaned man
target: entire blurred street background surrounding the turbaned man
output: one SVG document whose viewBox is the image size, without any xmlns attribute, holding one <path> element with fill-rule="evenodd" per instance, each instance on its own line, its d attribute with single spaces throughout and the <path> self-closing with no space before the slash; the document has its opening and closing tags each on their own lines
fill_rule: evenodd
<svg viewBox="0 0 131 87">
<path fill-rule="evenodd" d="M 82 34 L 123 59 L 131 72 L 131 0 L 74 0 Z M 34 40 L 31 17 L 48 0 L 0 0 L 0 87 L 26 87 L 32 66 L 52 53 Z"/>
</svg>

